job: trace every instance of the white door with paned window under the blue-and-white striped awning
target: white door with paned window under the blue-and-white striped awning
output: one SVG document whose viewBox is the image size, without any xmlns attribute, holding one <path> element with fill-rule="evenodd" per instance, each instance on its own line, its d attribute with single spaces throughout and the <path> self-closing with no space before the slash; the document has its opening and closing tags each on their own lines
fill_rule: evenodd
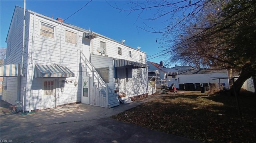
<svg viewBox="0 0 256 143">
<path fill-rule="evenodd" d="M 42 87 L 41 109 L 54 108 L 56 103 L 56 80 L 44 79 Z"/>
</svg>

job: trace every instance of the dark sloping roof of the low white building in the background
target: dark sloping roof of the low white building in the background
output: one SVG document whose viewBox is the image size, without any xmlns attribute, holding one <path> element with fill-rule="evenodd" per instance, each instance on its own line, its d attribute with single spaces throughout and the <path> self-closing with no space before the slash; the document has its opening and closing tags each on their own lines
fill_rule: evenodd
<svg viewBox="0 0 256 143">
<path fill-rule="evenodd" d="M 191 69 L 191 70 L 179 70 L 178 75 L 189 75 L 189 74 L 211 74 L 211 73 L 224 73 L 228 70 L 223 69 Z"/>
</svg>

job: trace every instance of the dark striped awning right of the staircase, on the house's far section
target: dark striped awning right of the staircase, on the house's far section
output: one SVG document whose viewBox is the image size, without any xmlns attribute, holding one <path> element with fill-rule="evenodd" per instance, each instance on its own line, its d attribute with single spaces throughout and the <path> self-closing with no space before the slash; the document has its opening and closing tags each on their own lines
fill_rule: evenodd
<svg viewBox="0 0 256 143">
<path fill-rule="evenodd" d="M 147 65 L 138 63 L 138 62 L 124 60 L 124 59 L 114 60 L 114 67 L 123 67 L 123 66 L 132 66 L 133 69 L 138 69 L 138 68 L 145 68 Z"/>
</svg>

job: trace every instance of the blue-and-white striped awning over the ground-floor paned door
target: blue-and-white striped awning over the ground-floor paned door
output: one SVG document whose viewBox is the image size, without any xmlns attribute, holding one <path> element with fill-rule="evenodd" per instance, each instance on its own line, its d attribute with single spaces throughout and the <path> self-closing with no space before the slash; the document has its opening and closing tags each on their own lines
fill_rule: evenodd
<svg viewBox="0 0 256 143">
<path fill-rule="evenodd" d="M 36 65 L 35 77 L 74 77 L 74 72 L 67 67 L 54 65 Z"/>
</svg>

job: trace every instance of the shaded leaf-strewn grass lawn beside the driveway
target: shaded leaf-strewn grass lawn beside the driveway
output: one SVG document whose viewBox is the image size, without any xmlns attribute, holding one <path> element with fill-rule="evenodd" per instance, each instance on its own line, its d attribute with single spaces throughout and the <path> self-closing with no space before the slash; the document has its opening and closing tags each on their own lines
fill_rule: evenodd
<svg viewBox="0 0 256 143">
<path fill-rule="evenodd" d="M 207 143 L 255 143 L 256 96 L 179 91 L 110 118 Z"/>
</svg>

